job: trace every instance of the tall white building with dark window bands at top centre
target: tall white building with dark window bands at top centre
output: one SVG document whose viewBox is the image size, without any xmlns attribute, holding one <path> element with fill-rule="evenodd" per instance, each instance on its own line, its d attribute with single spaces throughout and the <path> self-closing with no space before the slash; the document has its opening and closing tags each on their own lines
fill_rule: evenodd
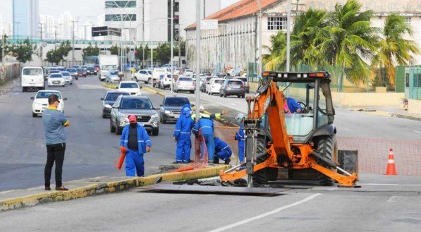
<svg viewBox="0 0 421 232">
<path fill-rule="evenodd" d="M 195 3 L 191 0 L 104 1 L 105 25 L 123 28 L 123 39 L 136 41 L 171 40 L 171 1 L 173 35 L 185 35 L 184 28 L 195 21 Z M 205 1 L 205 15 L 218 11 L 221 0 Z M 203 6 L 203 5 L 202 5 Z"/>
</svg>

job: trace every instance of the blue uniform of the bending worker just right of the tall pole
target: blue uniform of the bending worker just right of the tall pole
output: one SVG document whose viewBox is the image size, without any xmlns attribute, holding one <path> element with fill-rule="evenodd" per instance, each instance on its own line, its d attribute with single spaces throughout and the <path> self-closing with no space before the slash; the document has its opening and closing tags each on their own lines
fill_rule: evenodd
<svg viewBox="0 0 421 232">
<path fill-rule="evenodd" d="M 203 138 L 205 138 L 208 160 L 214 160 L 215 145 L 214 145 L 214 121 L 211 118 L 200 118 L 195 124 L 193 133 L 199 135 L 199 130 L 202 131 Z"/>
</svg>

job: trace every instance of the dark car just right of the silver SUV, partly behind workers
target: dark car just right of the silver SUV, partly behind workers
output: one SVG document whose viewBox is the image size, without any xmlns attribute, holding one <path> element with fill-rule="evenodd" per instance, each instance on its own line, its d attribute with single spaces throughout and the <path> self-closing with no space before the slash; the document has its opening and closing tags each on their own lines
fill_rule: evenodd
<svg viewBox="0 0 421 232">
<path fill-rule="evenodd" d="M 184 104 L 190 104 L 187 97 L 167 96 L 164 97 L 161 106 L 161 123 L 177 121 L 180 118 L 181 108 Z"/>
</svg>

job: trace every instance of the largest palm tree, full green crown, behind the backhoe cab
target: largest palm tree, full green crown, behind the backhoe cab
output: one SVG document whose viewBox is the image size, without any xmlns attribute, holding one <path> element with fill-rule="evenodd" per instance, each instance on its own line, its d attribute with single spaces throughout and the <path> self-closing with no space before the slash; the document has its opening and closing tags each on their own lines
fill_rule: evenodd
<svg viewBox="0 0 421 232">
<path fill-rule="evenodd" d="M 313 43 L 312 52 L 322 54 L 328 63 L 340 67 L 339 90 L 345 74 L 352 83 L 365 83 L 370 75 L 366 61 L 372 59 L 379 47 L 379 30 L 370 23 L 373 13 L 361 12 L 361 6 L 356 0 L 348 0 L 343 6 L 336 4 L 329 25 L 319 30 Z"/>
</svg>

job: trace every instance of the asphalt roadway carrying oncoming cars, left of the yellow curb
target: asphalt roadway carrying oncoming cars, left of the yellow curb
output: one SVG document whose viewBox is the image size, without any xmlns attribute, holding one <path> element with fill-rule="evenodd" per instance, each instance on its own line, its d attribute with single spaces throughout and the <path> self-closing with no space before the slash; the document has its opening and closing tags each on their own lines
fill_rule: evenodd
<svg viewBox="0 0 421 232">
<path fill-rule="evenodd" d="M 119 135 L 110 133 L 109 119 L 102 118 L 100 98 L 108 89 L 94 76 L 79 78 L 66 87 L 47 89 L 59 90 L 68 98 L 64 114 L 71 126 L 67 129 L 63 181 L 124 176 L 125 171 L 114 168 L 119 156 Z M 44 185 L 47 150 L 42 118 L 32 118 L 30 97 L 35 93 L 22 92 L 16 81 L 10 92 L 0 96 L 0 191 Z M 150 97 L 154 106 L 158 107 L 162 101 L 157 94 L 147 91 L 142 94 Z M 160 124 L 159 136 L 151 136 L 152 152 L 145 156 L 145 174 L 156 173 L 159 165 L 173 161 L 173 127 L 173 124 Z"/>
</svg>

